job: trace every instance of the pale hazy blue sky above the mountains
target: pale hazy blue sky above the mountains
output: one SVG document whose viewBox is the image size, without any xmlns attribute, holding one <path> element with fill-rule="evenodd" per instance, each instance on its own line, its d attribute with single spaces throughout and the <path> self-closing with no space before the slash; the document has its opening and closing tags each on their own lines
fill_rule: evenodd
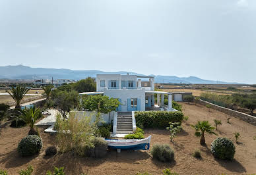
<svg viewBox="0 0 256 175">
<path fill-rule="evenodd" d="M 256 84 L 255 0 L 0 0 L 0 66 Z"/>
</svg>

